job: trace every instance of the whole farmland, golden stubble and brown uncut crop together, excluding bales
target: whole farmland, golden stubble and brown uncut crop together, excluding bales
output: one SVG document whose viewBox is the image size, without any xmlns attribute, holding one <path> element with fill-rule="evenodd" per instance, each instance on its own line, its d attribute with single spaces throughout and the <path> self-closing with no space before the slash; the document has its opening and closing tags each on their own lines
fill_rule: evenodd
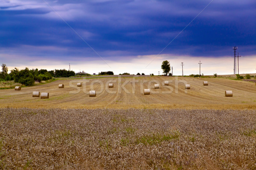
<svg viewBox="0 0 256 170">
<path fill-rule="evenodd" d="M 33 91 L 49 99 L 33 98 Z M 224 78 L 109 77 L 0 90 L 1 169 L 254 170 L 256 86 Z"/>
</svg>

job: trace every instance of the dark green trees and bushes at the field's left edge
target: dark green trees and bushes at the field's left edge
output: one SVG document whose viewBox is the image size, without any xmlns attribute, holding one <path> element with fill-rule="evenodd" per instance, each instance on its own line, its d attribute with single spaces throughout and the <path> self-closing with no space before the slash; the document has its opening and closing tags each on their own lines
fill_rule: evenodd
<svg viewBox="0 0 256 170">
<path fill-rule="evenodd" d="M 15 82 L 23 85 L 33 85 L 35 81 L 41 82 L 43 80 L 52 79 L 52 77 L 70 77 L 76 75 L 74 71 L 67 71 L 65 69 L 47 71 L 46 69 L 38 70 L 37 68 L 32 70 L 29 70 L 29 68 L 25 68 L 23 70 L 15 68 L 11 70 L 11 73 L 9 74 L 7 72 L 8 68 L 3 64 L 0 81 L 14 80 Z"/>
</svg>

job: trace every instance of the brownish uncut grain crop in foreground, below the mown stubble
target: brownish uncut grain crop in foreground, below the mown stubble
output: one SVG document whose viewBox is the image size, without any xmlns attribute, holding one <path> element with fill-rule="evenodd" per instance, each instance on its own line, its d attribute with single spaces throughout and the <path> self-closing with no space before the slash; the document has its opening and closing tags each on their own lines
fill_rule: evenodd
<svg viewBox="0 0 256 170">
<path fill-rule="evenodd" d="M 0 109 L 0 169 L 255 170 L 256 110 Z"/>
</svg>

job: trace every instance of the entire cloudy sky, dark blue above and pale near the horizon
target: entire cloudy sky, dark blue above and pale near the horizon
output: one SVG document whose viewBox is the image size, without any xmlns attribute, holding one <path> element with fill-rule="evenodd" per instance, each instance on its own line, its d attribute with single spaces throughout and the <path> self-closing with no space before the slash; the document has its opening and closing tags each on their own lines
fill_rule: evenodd
<svg viewBox="0 0 256 170">
<path fill-rule="evenodd" d="M 11 69 L 174 75 L 256 73 L 255 0 L 0 0 Z"/>
</svg>

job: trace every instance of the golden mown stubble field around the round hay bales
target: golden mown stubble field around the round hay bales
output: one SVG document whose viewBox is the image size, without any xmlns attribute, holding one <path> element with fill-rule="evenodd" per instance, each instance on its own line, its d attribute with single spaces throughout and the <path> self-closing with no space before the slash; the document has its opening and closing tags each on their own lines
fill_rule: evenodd
<svg viewBox="0 0 256 170">
<path fill-rule="evenodd" d="M 169 86 L 164 86 L 164 81 L 169 81 Z M 203 81 L 208 81 L 209 85 L 204 86 Z M 83 86 L 76 87 L 77 82 L 83 82 Z M 108 88 L 111 82 L 114 88 Z M 157 82 L 160 88 L 154 89 Z M 184 83 L 191 86 L 187 94 Z M 58 88 L 58 84 L 64 84 L 65 88 Z M 150 88 L 151 94 L 144 95 L 144 88 Z M 96 90 L 96 97 L 89 97 L 90 90 Z M 226 90 L 232 90 L 233 97 L 225 97 Z M 48 92 L 49 99 L 32 98 L 33 91 Z M 22 88 L 21 91 L 0 90 L 0 108 L 8 107 L 256 109 L 256 86 L 253 82 L 223 78 L 154 76 L 60 79 Z"/>
</svg>

